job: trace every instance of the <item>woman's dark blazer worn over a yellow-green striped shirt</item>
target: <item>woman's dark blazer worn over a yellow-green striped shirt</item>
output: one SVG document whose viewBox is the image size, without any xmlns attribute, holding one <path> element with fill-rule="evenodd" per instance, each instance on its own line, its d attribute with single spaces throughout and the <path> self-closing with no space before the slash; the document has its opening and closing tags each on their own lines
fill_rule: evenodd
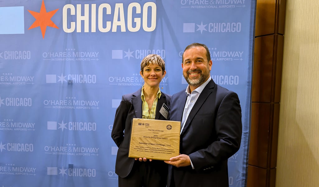
<svg viewBox="0 0 319 187">
<path fill-rule="evenodd" d="M 115 113 L 111 136 L 116 146 L 119 148 L 117 151 L 115 162 L 115 173 L 122 178 L 130 174 L 135 161 L 134 158 L 129 158 L 128 155 L 132 119 L 142 118 L 141 91 L 142 88 L 137 90 L 135 93 L 123 95 L 120 106 L 116 109 Z M 155 119 L 166 120 L 165 117 L 159 113 L 159 110 L 162 107 L 163 103 L 165 103 L 167 107 L 169 107 L 170 101 L 171 96 L 162 92 L 160 98 L 157 101 Z M 160 162 L 162 162 L 163 165 L 167 167 L 166 163 L 164 163 L 163 161 Z"/>
</svg>

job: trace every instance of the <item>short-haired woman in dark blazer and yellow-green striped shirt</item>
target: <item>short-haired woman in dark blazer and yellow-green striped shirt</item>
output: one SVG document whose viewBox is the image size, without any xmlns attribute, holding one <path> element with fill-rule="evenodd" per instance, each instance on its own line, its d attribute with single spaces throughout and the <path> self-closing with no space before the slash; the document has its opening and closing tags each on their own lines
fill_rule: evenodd
<svg viewBox="0 0 319 187">
<path fill-rule="evenodd" d="M 135 93 L 123 95 L 116 109 L 111 136 L 119 148 L 115 162 L 119 187 L 166 187 L 166 163 L 128 157 L 133 118 L 167 120 L 159 112 L 163 104 L 169 107 L 171 100 L 170 95 L 159 89 L 165 74 L 165 62 L 159 55 L 145 56 L 140 71 L 145 82 L 143 87 Z"/>
</svg>

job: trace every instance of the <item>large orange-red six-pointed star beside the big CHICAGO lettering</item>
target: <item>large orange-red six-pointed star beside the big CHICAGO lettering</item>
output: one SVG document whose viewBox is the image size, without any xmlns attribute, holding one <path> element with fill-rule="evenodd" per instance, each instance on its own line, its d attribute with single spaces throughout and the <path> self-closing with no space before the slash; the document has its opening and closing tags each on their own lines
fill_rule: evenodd
<svg viewBox="0 0 319 187">
<path fill-rule="evenodd" d="M 42 0 L 40 12 L 34 12 L 34 11 L 28 10 L 30 12 L 30 14 L 32 14 L 33 17 L 35 18 L 35 21 L 30 26 L 30 28 L 28 28 L 28 30 L 40 26 L 42 37 L 44 39 L 44 35 L 45 35 L 45 31 L 47 29 L 47 26 L 59 29 L 59 27 L 57 27 L 56 24 L 54 24 L 53 21 L 51 20 L 52 16 L 58 10 L 59 9 L 47 12 L 47 10 L 45 9 L 44 0 Z"/>
</svg>

